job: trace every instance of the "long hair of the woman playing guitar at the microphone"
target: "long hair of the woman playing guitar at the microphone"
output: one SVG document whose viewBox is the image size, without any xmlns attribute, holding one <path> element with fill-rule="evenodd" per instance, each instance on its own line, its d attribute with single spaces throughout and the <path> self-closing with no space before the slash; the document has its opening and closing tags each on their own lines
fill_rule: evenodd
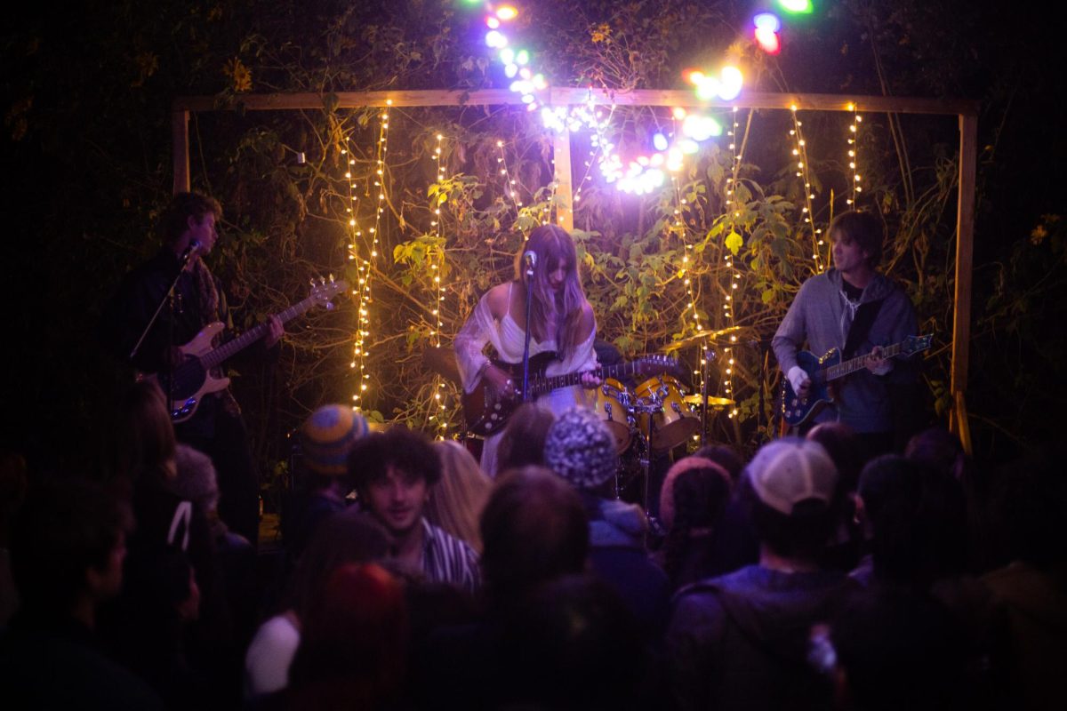
<svg viewBox="0 0 1067 711">
<path fill-rule="evenodd" d="M 537 255 L 532 278 L 526 276 L 523 264 L 523 255 L 527 252 Z M 562 291 L 557 293 L 548 284 L 548 274 L 560 263 L 564 264 L 567 277 Z M 526 287 L 527 297 L 532 297 L 530 323 L 526 327 L 540 341 L 554 337 L 558 355 L 566 360 L 577 346 L 582 311 L 586 304 L 586 293 L 578 278 L 577 253 L 568 231 L 556 225 L 541 225 L 534 229 L 515 255 L 515 278 Z M 550 334 L 548 322 L 554 314 L 562 318 L 556 323 L 556 333 Z"/>
</svg>

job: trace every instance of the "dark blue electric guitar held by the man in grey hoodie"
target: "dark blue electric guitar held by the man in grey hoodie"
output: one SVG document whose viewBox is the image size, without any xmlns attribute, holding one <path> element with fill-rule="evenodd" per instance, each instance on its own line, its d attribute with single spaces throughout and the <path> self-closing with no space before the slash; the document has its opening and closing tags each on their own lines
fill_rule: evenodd
<svg viewBox="0 0 1067 711">
<path fill-rule="evenodd" d="M 908 336 L 899 343 L 882 346 L 881 356 L 907 358 L 928 349 L 933 340 L 933 336 Z M 798 398 L 790 384 L 790 378 L 782 378 L 782 419 L 795 427 L 817 415 L 824 406 L 833 402 L 830 383 L 866 368 L 869 355 L 857 356 L 842 362 L 841 351 L 838 349 L 830 349 L 822 358 L 816 358 L 808 351 L 797 353 L 797 365 L 808 373 L 811 386 L 806 397 Z"/>
</svg>

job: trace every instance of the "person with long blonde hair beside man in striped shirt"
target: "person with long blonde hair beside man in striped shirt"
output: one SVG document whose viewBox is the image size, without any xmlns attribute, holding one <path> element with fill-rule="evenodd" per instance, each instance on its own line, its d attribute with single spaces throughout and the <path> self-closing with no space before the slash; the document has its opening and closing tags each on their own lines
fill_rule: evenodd
<svg viewBox="0 0 1067 711">
<path fill-rule="evenodd" d="M 481 552 L 478 520 L 489 501 L 493 480 L 478 460 L 455 439 L 434 442 L 441 456 L 441 481 L 426 504 L 426 520 Z"/>
</svg>

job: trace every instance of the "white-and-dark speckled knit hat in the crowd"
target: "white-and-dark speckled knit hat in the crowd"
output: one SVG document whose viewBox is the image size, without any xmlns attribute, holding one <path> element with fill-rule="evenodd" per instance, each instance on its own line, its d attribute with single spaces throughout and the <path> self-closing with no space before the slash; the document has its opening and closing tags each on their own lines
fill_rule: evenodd
<svg viewBox="0 0 1067 711">
<path fill-rule="evenodd" d="M 596 488 L 618 467 L 615 436 L 593 410 L 571 407 L 548 427 L 544 463 L 575 488 Z"/>
</svg>

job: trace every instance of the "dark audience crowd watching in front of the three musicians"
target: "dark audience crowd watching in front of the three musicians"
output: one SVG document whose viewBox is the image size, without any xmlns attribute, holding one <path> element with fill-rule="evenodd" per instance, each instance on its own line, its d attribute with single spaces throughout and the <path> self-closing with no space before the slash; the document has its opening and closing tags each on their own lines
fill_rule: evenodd
<svg viewBox="0 0 1067 711">
<path fill-rule="evenodd" d="M 158 386 L 125 399 L 107 482 L 5 456 L 5 707 L 1058 707 L 1052 456 L 986 470 L 929 430 L 864 460 L 838 422 L 747 460 L 710 446 L 667 472 L 657 534 L 615 497 L 605 422 L 534 409 L 496 479 L 459 442 L 316 410 L 258 585 Z"/>
</svg>

